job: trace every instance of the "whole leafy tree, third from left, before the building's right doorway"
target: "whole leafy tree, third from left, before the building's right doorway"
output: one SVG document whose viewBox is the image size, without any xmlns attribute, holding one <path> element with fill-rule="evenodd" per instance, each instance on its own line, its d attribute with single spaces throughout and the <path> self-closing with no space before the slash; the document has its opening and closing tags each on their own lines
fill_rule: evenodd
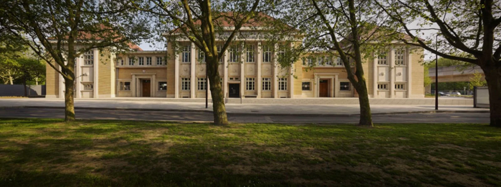
<svg viewBox="0 0 501 187">
<path fill-rule="evenodd" d="M 291 1 L 288 8 L 277 11 L 284 14 L 284 22 L 304 33 L 304 48 L 324 50 L 341 59 L 359 95 L 359 125 L 373 126 L 363 63 L 389 51 L 394 37 L 402 35 L 379 26 L 385 17 L 374 10 L 372 0 Z"/>
</svg>

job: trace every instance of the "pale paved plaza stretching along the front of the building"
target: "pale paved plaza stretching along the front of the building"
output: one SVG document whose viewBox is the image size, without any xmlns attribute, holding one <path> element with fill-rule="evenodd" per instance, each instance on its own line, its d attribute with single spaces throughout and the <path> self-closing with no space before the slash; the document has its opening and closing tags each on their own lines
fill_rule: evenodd
<svg viewBox="0 0 501 187">
<path fill-rule="evenodd" d="M 473 108 L 471 105 L 454 104 L 465 103 L 472 99 L 462 98 L 444 98 L 439 99 L 439 111 L 449 112 L 487 112 L 488 108 Z M 239 99 L 238 99 L 239 100 Z M 249 100 L 266 100 L 266 99 L 242 99 Z M 356 115 L 360 112 L 357 98 L 343 99 L 282 99 L 283 102 L 277 102 L 280 99 L 270 99 L 268 104 L 259 103 L 226 103 L 226 111 L 228 113 L 238 114 L 308 114 L 308 115 Z M 289 103 L 297 100 L 298 103 Z M 342 100 L 343 102 L 351 101 L 349 104 L 302 104 L 304 100 L 310 100 L 309 103 L 317 103 L 319 100 Z M 403 99 L 408 103 L 395 103 L 400 99 L 384 99 L 387 104 L 373 103 L 371 100 L 371 110 L 373 113 L 407 113 L 407 112 L 434 112 L 434 105 L 429 103 L 433 99 Z M 424 101 L 423 101 L 424 100 Z M 464 101 L 466 100 L 466 101 Z M 159 98 L 108 98 L 108 99 L 75 99 L 75 107 L 80 109 L 129 109 L 129 110 L 150 110 L 150 111 L 199 111 L 210 112 L 212 105 L 209 100 L 209 107 L 205 108 L 203 99 L 159 99 Z M 235 101 L 235 100 L 232 100 Z M 379 101 L 379 100 L 374 100 Z M 432 102 L 434 103 L 434 102 Z M 443 104 L 449 103 L 449 104 Z M 450 104 L 452 103 L 452 104 Z M 14 98 L 0 99 L 0 107 L 38 107 L 38 108 L 62 108 L 64 107 L 64 99 L 60 98 Z"/>
</svg>

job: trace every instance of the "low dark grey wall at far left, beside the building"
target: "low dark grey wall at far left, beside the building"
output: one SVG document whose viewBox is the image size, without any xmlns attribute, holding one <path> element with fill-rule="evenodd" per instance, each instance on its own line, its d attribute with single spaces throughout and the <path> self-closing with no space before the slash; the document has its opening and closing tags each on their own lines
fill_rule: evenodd
<svg viewBox="0 0 501 187">
<path fill-rule="evenodd" d="M 29 96 L 45 95 L 45 85 L 26 85 Z M 25 87 L 20 84 L 0 85 L 0 96 L 24 96 Z"/>
</svg>

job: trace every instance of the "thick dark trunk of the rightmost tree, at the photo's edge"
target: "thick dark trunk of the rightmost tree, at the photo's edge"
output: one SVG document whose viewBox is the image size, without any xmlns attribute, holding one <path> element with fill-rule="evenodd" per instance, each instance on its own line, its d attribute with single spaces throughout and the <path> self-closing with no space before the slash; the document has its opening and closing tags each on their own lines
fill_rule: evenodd
<svg viewBox="0 0 501 187">
<path fill-rule="evenodd" d="M 489 88 L 490 125 L 501 127 L 501 67 L 482 70 Z"/>
</svg>

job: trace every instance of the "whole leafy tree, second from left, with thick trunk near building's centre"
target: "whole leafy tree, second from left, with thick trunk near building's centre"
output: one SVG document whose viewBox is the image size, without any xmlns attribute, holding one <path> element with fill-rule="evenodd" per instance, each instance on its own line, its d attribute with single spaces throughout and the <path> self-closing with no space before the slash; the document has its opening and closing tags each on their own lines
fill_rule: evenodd
<svg viewBox="0 0 501 187">
<path fill-rule="evenodd" d="M 159 24 L 155 28 L 165 28 L 160 29 L 163 33 L 159 35 L 167 33 L 167 40 L 175 53 L 179 52 L 180 38 L 188 39 L 196 48 L 203 51 L 210 82 L 214 123 L 228 124 L 218 72 L 219 59 L 229 46 L 238 45 L 232 41 L 237 35 L 241 35 L 239 31 L 242 26 L 249 26 L 249 22 L 262 20 L 260 12 L 264 7 L 271 6 L 272 1 L 130 0 L 129 2 L 131 6 L 158 18 Z"/>
</svg>

